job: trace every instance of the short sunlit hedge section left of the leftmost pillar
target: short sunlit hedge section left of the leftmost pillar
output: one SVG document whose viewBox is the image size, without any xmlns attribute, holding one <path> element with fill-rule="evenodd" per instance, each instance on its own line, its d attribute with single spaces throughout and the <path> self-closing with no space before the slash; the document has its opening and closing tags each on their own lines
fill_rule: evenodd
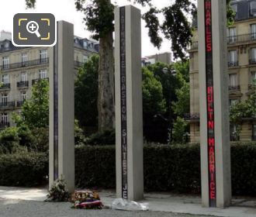
<svg viewBox="0 0 256 217">
<path fill-rule="evenodd" d="M 47 181 L 46 153 L 12 153 L 0 155 L 0 185 L 31 187 Z"/>
</svg>

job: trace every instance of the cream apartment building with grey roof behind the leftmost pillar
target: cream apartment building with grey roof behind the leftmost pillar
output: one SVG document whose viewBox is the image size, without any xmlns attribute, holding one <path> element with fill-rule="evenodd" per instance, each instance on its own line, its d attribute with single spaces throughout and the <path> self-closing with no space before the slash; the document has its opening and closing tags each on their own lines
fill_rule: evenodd
<svg viewBox="0 0 256 217">
<path fill-rule="evenodd" d="M 7 37 L 8 38 L 8 37 Z M 93 40 L 74 36 L 74 71 L 99 52 Z M 12 112 L 20 112 L 25 100 L 31 98 L 32 86 L 49 77 L 48 47 L 15 47 L 12 41 L 0 41 L 0 129 L 13 126 Z"/>
</svg>

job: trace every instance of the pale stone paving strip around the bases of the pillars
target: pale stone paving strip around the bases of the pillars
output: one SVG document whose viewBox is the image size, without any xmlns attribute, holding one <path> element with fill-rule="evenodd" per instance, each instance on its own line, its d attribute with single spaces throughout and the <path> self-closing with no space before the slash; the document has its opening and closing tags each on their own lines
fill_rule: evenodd
<svg viewBox="0 0 256 217">
<path fill-rule="evenodd" d="M 43 202 L 46 198 L 46 188 L 8 188 L 0 187 L 0 198 L 20 199 L 28 201 Z M 104 205 L 111 206 L 116 198 L 113 191 L 99 191 Z M 202 208 L 201 198 L 194 195 L 173 195 L 168 193 L 144 194 L 143 202 L 149 204 L 152 212 L 173 212 L 192 215 L 213 215 L 222 217 L 255 217 L 256 198 L 234 198 L 233 206 L 230 208 Z M 0 215 L 2 216 L 2 215 Z M 171 215 L 170 215 L 171 216 Z"/>
</svg>

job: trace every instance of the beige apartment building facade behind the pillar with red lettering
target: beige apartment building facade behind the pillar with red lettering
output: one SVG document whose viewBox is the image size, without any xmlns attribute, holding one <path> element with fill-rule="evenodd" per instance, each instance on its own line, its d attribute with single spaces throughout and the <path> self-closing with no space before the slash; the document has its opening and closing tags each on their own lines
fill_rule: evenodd
<svg viewBox="0 0 256 217">
<path fill-rule="evenodd" d="M 256 79 L 256 0 L 235 0 L 231 6 L 236 12 L 233 26 L 227 27 L 228 77 L 230 106 L 246 99 Z M 198 34 L 195 30 L 190 55 L 190 140 L 199 142 L 199 56 Z M 255 105 L 256 106 L 256 105 Z M 256 119 L 248 117 L 237 127 L 230 125 L 230 140 L 256 140 Z"/>
</svg>

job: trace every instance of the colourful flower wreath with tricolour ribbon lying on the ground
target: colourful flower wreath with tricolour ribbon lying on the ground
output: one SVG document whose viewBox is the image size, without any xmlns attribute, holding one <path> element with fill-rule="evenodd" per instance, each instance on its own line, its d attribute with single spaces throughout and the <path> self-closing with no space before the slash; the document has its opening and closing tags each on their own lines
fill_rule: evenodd
<svg viewBox="0 0 256 217">
<path fill-rule="evenodd" d="M 99 194 L 95 191 L 74 191 L 71 196 L 72 208 L 102 209 Z"/>
</svg>

